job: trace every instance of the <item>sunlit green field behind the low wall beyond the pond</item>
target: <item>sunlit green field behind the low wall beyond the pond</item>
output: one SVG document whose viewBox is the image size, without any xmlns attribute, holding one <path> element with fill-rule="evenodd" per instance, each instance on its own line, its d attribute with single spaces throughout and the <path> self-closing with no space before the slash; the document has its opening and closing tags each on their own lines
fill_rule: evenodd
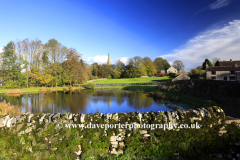
<svg viewBox="0 0 240 160">
<path fill-rule="evenodd" d="M 93 81 L 94 84 L 107 84 L 107 83 L 151 83 L 151 82 L 165 82 L 172 80 L 173 77 L 165 76 L 165 77 L 142 77 L 142 78 L 120 78 L 120 79 L 108 79 L 108 80 L 100 80 Z"/>
</svg>

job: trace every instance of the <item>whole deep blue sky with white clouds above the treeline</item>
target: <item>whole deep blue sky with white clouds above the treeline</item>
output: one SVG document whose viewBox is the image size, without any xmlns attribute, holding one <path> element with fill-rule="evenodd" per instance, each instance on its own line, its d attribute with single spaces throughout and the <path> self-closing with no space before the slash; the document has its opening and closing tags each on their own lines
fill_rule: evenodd
<svg viewBox="0 0 240 160">
<path fill-rule="evenodd" d="M 134 56 L 240 60 L 239 0 L 1 0 L 0 50 L 10 41 L 55 38 L 88 63 Z"/>
</svg>

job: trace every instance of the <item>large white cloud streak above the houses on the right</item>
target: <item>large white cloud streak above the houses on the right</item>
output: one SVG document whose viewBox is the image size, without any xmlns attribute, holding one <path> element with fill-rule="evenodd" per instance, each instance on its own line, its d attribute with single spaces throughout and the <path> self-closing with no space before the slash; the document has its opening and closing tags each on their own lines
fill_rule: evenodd
<svg viewBox="0 0 240 160">
<path fill-rule="evenodd" d="M 206 58 L 210 61 L 215 57 L 221 60 L 240 60 L 239 44 L 240 20 L 234 20 L 221 28 L 200 33 L 180 49 L 161 57 L 169 62 L 181 60 L 185 71 L 188 71 L 201 65 Z"/>
</svg>

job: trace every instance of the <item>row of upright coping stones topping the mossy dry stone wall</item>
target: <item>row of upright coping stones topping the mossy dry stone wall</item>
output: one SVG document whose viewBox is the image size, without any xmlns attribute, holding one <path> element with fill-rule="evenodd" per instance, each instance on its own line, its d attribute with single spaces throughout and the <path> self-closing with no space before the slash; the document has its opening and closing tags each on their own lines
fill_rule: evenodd
<svg viewBox="0 0 240 160">
<path fill-rule="evenodd" d="M 125 119 L 124 119 L 125 118 Z M 106 123 L 110 123 L 110 120 L 115 122 L 124 123 L 187 123 L 194 122 L 196 120 L 203 120 L 204 118 L 214 119 L 221 121 L 225 119 L 224 111 L 217 106 L 207 107 L 207 108 L 197 108 L 190 110 L 176 110 L 176 111 L 158 111 L 158 112 L 130 112 L 130 113 L 95 113 L 95 114 L 79 114 L 79 113 L 41 113 L 32 114 L 24 113 L 21 116 L 10 117 L 9 115 L 1 116 L 0 127 L 14 127 L 19 123 L 31 123 L 31 124 L 42 124 L 42 123 L 57 123 L 57 122 L 80 122 L 81 124 L 103 120 Z M 124 119 L 124 120 L 123 120 Z"/>
</svg>

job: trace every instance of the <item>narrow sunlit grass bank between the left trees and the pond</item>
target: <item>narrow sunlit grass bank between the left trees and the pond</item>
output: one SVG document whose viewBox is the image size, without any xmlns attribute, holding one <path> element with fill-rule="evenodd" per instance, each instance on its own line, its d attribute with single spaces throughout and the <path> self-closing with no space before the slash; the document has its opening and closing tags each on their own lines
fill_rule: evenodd
<svg viewBox="0 0 240 160">
<path fill-rule="evenodd" d="M 31 87 L 19 89 L 22 93 L 38 93 L 42 87 Z M 46 89 L 52 89 L 52 91 L 63 91 L 64 87 L 47 87 Z M 83 89 L 82 87 L 74 87 L 75 89 Z M 6 93 L 8 91 L 13 91 L 16 89 L 1 89 L 0 93 Z"/>
</svg>

